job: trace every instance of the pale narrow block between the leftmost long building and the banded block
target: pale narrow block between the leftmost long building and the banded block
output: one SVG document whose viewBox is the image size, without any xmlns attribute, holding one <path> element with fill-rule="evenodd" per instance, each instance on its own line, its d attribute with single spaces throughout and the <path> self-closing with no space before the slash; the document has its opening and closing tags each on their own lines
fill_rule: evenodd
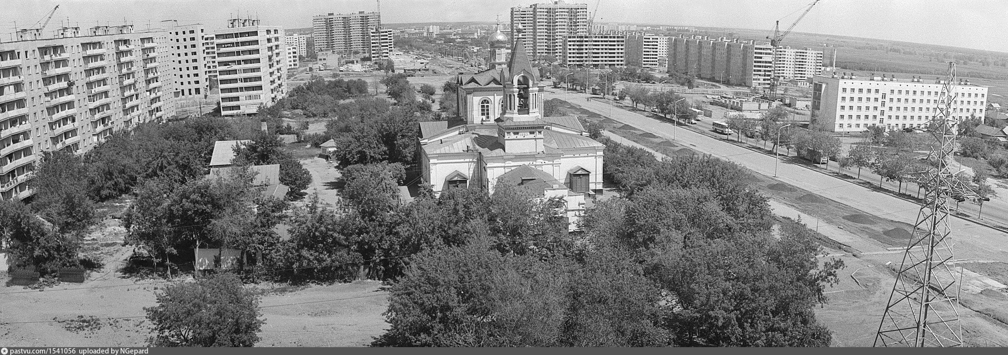
<svg viewBox="0 0 1008 355">
<path fill-rule="evenodd" d="M 168 31 L 175 98 L 201 99 L 210 91 L 207 76 L 206 29 L 203 24 L 176 25 Z"/>
</svg>

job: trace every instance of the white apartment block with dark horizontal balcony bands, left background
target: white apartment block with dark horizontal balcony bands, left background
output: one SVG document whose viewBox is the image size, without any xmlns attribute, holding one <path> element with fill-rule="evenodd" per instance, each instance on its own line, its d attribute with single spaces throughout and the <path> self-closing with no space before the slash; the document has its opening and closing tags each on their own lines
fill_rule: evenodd
<svg viewBox="0 0 1008 355">
<path fill-rule="evenodd" d="M 231 19 L 214 31 L 221 115 L 249 115 L 287 93 L 283 28 L 259 20 Z"/>
</svg>

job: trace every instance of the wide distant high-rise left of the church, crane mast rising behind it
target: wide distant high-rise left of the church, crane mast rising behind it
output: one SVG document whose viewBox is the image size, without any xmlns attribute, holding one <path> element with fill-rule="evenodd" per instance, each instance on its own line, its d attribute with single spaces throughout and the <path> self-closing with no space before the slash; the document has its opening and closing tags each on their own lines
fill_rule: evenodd
<svg viewBox="0 0 1008 355">
<path fill-rule="evenodd" d="M 350 58 L 365 57 L 372 55 L 372 32 L 381 27 L 381 14 L 330 12 L 312 17 L 311 25 L 317 52 L 338 53 Z"/>
</svg>

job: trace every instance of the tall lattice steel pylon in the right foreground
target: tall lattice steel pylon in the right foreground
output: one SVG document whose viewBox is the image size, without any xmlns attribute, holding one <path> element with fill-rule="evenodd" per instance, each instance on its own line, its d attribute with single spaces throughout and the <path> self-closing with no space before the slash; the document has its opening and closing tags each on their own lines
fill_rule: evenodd
<svg viewBox="0 0 1008 355">
<path fill-rule="evenodd" d="M 909 176 L 925 189 L 926 195 L 875 335 L 875 346 L 963 344 L 957 310 L 962 269 L 949 263 L 953 258 L 949 199 L 976 201 L 980 196 L 948 166 L 956 147 L 958 122 L 952 117 L 957 98 L 955 81 L 956 62 L 950 61 L 940 101 L 929 123 L 934 136 L 927 156 L 929 169 Z"/>
</svg>

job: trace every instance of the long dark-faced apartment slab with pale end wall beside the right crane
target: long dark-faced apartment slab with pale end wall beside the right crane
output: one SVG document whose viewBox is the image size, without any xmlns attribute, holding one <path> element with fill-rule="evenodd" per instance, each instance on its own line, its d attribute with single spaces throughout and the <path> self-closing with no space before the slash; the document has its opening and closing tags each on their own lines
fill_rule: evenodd
<svg viewBox="0 0 1008 355">
<path fill-rule="evenodd" d="M 738 38 L 679 35 L 668 45 L 668 71 L 732 85 L 768 86 L 773 47 Z"/>
</svg>

